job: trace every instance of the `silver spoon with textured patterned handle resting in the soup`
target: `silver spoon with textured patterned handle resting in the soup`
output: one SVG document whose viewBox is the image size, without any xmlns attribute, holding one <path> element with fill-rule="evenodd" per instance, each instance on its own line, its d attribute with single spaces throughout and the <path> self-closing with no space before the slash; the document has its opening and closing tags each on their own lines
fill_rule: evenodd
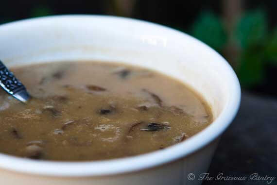
<svg viewBox="0 0 277 185">
<path fill-rule="evenodd" d="M 25 86 L 17 80 L 15 75 L 0 61 L 0 86 L 17 100 L 27 102 L 30 95 Z"/>
</svg>

